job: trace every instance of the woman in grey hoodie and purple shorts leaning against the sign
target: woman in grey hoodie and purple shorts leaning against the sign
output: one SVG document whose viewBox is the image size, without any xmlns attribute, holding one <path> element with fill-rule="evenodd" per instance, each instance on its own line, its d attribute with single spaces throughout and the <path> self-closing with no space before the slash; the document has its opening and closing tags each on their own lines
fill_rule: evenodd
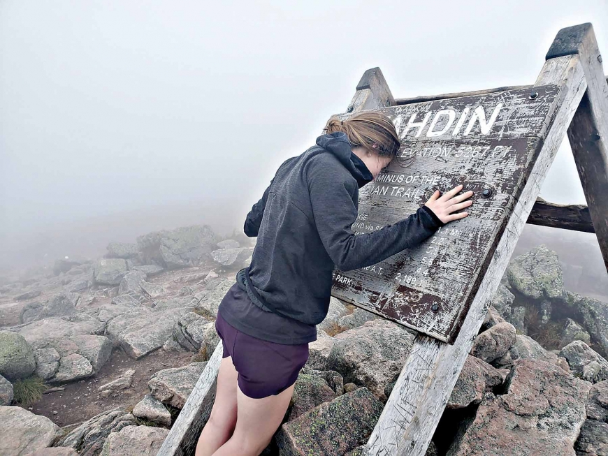
<svg viewBox="0 0 608 456">
<path fill-rule="evenodd" d="M 389 165 L 400 147 L 379 112 L 328 120 L 317 145 L 282 163 L 245 221 L 257 237 L 219 305 L 224 353 L 210 418 L 196 456 L 259 455 L 281 425 L 308 343 L 327 315 L 332 272 L 373 265 L 415 247 L 469 206 L 459 185 L 382 229 L 354 235 L 359 189 Z"/>
</svg>

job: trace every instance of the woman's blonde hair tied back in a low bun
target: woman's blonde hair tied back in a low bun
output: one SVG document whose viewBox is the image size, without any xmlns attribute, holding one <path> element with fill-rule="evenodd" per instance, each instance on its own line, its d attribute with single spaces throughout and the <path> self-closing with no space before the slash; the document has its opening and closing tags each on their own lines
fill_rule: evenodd
<svg viewBox="0 0 608 456">
<path fill-rule="evenodd" d="M 401 142 L 391 119 L 377 111 L 363 111 L 342 121 L 332 116 L 327 121 L 323 133 L 342 131 L 353 147 L 363 146 L 379 155 L 397 155 Z"/>
</svg>

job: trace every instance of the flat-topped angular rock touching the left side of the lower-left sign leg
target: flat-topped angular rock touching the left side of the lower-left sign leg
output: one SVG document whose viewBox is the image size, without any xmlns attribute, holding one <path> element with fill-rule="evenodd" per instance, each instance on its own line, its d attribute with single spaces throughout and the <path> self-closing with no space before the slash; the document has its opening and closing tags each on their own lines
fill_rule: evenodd
<svg viewBox="0 0 608 456">
<path fill-rule="evenodd" d="M 150 378 L 150 395 L 163 404 L 181 409 L 207 365 L 206 361 L 192 362 L 184 367 L 163 369 Z"/>
</svg>

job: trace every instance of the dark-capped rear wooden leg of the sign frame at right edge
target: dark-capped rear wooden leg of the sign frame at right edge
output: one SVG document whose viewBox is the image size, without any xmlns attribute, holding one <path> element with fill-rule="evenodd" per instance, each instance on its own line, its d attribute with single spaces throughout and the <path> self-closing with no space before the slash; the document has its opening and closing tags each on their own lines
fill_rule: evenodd
<svg viewBox="0 0 608 456">
<path fill-rule="evenodd" d="M 561 29 L 547 59 L 571 54 L 579 55 L 587 91 L 567 133 L 608 270 L 608 83 L 591 24 Z"/>
</svg>

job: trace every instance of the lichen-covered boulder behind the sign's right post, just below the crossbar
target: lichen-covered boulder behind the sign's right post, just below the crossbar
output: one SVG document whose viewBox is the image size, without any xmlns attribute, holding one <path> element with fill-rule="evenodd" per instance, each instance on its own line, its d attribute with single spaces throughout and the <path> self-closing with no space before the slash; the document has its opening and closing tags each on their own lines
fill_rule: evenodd
<svg viewBox="0 0 608 456">
<path fill-rule="evenodd" d="M 551 300 L 564 293 L 557 253 L 544 244 L 511 260 L 507 277 L 512 288 L 535 299 Z"/>
</svg>

